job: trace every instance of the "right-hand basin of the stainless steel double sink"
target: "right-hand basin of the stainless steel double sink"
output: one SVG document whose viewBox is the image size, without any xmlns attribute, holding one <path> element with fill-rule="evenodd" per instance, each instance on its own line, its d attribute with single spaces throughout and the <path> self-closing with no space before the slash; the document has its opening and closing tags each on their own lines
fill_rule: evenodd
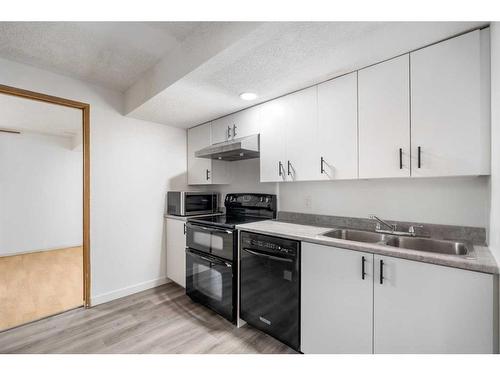
<svg viewBox="0 0 500 375">
<path fill-rule="evenodd" d="M 467 255 L 468 247 L 463 242 L 434 240 L 418 237 L 391 237 L 386 245 L 403 249 L 426 251 L 439 254 Z"/>
</svg>

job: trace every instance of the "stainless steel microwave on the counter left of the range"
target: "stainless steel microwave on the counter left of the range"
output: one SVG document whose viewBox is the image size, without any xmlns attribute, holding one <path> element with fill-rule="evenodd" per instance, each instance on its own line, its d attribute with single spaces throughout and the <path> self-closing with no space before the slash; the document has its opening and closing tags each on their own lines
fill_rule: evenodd
<svg viewBox="0 0 500 375">
<path fill-rule="evenodd" d="M 215 192 L 169 191 L 167 193 L 167 214 L 192 216 L 216 213 L 219 208 L 219 194 Z"/>
</svg>

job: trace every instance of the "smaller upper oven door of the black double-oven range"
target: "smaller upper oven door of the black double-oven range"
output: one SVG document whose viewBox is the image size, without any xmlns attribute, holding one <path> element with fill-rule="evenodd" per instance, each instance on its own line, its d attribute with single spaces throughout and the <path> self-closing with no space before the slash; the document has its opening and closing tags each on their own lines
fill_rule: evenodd
<svg viewBox="0 0 500 375">
<path fill-rule="evenodd" d="M 186 224 L 186 246 L 190 249 L 229 261 L 234 259 L 234 231 L 231 229 L 212 228 L 195 223 Z"/>
</svg>

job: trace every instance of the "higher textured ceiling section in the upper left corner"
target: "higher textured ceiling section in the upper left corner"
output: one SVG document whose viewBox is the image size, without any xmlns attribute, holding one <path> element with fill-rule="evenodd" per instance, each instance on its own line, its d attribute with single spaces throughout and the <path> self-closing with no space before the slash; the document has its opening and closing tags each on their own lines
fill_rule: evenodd
<svg viewBox="0 0 500 375">
<path fill-rule="evenodd" d="M 202 22 L 0 22 L 0 57 L 119 91 Z"/>
</svg>

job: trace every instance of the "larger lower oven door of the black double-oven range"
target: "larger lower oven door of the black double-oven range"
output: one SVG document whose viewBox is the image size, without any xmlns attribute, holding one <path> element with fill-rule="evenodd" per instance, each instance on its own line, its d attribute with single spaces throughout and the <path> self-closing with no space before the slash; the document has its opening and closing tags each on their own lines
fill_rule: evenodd
<svg viewBox="0 0 500 375">
<path fill-rule="evenodd" d="M 231 262 L 186 249 L 186 294 L 227 320 L 236 321 Z"/>
</svg>

